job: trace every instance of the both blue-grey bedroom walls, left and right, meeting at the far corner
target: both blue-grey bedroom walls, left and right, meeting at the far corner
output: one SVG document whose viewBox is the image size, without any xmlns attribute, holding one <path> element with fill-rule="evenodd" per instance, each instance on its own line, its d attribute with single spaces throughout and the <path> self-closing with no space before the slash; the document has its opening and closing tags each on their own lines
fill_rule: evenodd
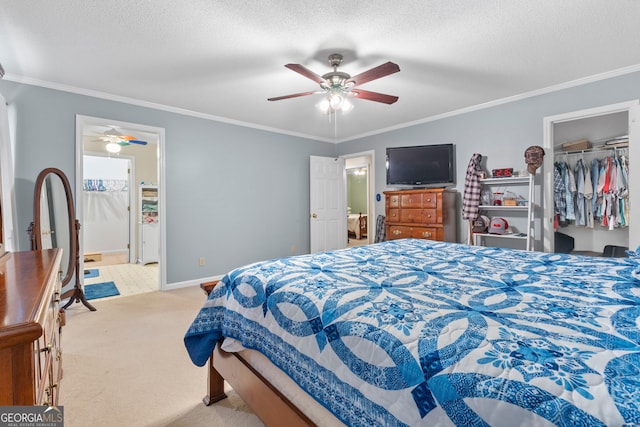
<svg viewBox="0 0 640 427">
<path fill-rule="evenodd" d="M 385 185 L 385 148 L 453 142 L 457 189 L 471 155 L 487 169 L 524 169 L 524 150 L 542 144 L 546 116 L 640 98 L 640 72 L 601 80 L 408 128 L 333 144 L 0 80 L 17 113 L 19 249 L 28 249 L 33 186 L 45 167 L 75 182 L 75 116 L 166 130 L 167 281 L 226 273 L 248 262 L 309 250 L 309 156 L 375 150 L 375 191 Z M 400 100 L 399 102 L 402 102 Z M 384 214 L 384 198 L 375 212 Z M 459 219 L 461 222 L 461 219 Z M 458 241 L 466 229 L 458 227 Z M 204 267 L 198 266 L 205 257 Z"/>
</svg>

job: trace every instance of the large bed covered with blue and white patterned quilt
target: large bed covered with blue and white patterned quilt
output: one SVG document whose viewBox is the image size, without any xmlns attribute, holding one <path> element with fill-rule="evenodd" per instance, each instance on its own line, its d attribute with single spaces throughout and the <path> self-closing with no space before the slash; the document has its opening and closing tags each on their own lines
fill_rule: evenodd
<svg viewBox="0 0 640 427">
<path fill-rule="evenodd" d="M 322 419 L 242 348 L 346 425 L 637 425 L 639 260 L 402 239 L 258 262 L 220 280 L 184 342 L 210 364 L 207 400 L 225 377 L 267 425 Z"/>
</svg>

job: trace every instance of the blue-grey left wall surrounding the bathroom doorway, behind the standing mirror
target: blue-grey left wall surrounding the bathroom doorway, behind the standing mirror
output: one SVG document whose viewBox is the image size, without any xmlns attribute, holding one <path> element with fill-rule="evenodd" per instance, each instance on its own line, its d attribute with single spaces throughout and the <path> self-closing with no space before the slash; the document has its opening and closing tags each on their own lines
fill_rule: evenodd
<svg viewBox="0 0 640 427">
<path fill-rule="evenodd" d="M 309 156 L 335 156 L 334 144 L 6 80 L 0 93 L 17 119 L 19 250 L 40 170 L 61 169 L 75 191 L 80 114 L 165 129 L 168 284 L 309 251 Z"/>
</svg>

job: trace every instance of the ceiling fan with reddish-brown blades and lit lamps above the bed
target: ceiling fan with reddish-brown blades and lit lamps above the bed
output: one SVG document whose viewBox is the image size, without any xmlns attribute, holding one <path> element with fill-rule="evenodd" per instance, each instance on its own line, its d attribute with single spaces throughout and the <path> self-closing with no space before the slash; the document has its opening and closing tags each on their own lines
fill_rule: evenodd
<svg viewBox="0 0 640 427">
<path fill-rule="evenodd" d="M 307 67 L 301 64 L 286 64 L 290 70 L 299 73 L 308 79 L 320 84 L 321 90 L 294 93 L 291 95 L 277 96 L 275 98 L 268 98 L 269 101 L 279 101 L 281 99 L 297 98 L 299 96 L 307 96 L 314 94 L 326 94 L 326 101 L 328 102 L 328 109 L 337 110 L 342 105 L 345 97 L 354 97 L 360 99 L 367 99 L 369 101 L 382 102 L 385 104 L 393 104 L 398 100 L 397 96 L 387 95 L 379 92 L 371 92 L 368 90 L 360 89 L 359 86 L 368 83 L 372 80 L 376 80 L 389 74 L 397 73 L 400 71 L 400 67 L 393 62 L 386 62 L 370 70 L 364 71 L 351 77 L 349 74 L 342 71 L 338 71 L 338 66 L 342 63 L 342 55 L 334 53 L 329 55 L 329 64 L 333 67 L 333 71 L 326 73 L 322 76 L 314 73 Z"/>
</svg>

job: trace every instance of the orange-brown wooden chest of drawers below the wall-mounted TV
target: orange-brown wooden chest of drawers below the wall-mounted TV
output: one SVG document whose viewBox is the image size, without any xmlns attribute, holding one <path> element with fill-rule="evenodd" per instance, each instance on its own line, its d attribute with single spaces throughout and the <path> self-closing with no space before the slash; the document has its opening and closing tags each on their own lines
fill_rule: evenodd
<svg viewBox="0 0 640 427">
<path fill-rule="evenodd" d="M 455 242 L 456 191 L 444 188 L 385 191 L 386 239 Z"/>
</svg>

